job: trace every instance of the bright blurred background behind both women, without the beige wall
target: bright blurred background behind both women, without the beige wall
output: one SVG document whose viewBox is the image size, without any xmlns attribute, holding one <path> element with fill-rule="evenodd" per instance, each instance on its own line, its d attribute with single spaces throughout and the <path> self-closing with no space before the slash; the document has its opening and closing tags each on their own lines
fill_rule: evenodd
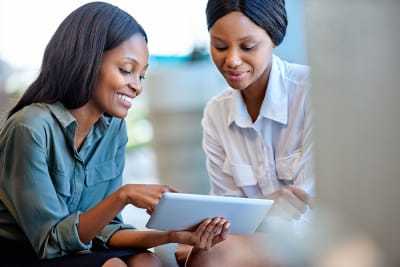
<svg viewBox="0 0 400 267">
<path fill-rule="evenodd" d="M 3 112 L 36 77 L 45 46 L 61 21 L 87 2 L 0 0 Z M 208 54 L 207 1 L 106 2 L 142 24 L 151 53 L 144 94 L 127 119 L 127 176 L 171 184 L 184 192 L 208 193 L 200 120 L 207 100 L 224 90 L 225 84 Z M 289 34 L 277 53 L 305 63 L 301 2 L 288 1 Z"/>
</svg>

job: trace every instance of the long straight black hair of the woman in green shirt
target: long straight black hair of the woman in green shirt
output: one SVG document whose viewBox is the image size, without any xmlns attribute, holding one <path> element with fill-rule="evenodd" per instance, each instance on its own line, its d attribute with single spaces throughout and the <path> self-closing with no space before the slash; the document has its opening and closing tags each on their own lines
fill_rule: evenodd
<svg viewBox="0 0 400 267">
<path fill-rule="evenodd" d="M 8 117 L 32 103 L 60 101 L 68 109 L 85 105 L 95 88 L 104 52 L 136 33 L 147 42 L 142 26 L 116 6 L 92 2 L 79 7 L 54 33 L 39 76 Z"/>
</svg>

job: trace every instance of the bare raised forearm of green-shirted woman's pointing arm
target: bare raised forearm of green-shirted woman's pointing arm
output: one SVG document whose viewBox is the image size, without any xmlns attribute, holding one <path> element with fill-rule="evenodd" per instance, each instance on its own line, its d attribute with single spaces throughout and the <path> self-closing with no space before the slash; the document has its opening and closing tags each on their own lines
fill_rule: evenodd
<svg viewBox="0 0 400 267">
<path fill-rule="evenodd" d="M 117 190 L 94 208 L 83 212 L 79 216 L 78 233 L 83 243 L 87 243 L 96 237 L 107 224 L 109 224 L 115 216 L 126 205 L 126 197 L 122 189 Z"/>
</svg>

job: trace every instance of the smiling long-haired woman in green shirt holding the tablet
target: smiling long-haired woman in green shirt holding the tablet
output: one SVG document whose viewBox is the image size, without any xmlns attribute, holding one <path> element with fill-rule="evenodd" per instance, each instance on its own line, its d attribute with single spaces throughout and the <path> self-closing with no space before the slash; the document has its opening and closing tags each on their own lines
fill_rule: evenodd
<svg viewBox="0 0 400 267">
<path fill-rule="evenodd" d="M 224 239 L 221 218 L 179 232 L 121 220 L 126 205 L 151 212 L 174 191 L 121 186 L 124 117 L 147 66 L 146 33 L 118 7 L 89 3 L 61 23 L 0 132 L 1 266 L 160 266 L 147 248 L 207 249 Z"/>
</svg>

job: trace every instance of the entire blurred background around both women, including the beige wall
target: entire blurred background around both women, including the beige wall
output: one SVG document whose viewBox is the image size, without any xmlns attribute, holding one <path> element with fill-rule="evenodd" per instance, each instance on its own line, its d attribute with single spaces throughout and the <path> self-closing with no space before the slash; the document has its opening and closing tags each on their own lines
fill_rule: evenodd
<svg viewBox="0 0 400 267">
<path fill-rule="evenodd" d="M 36 77 L 57 26 L 87 2 L 0 0 L 0 123 Z M 106 2 L 142 24 L 151 53 L 144 93 L 127 118 L 124 182 L 207 194 L 200 121 L 205 103 L 226 88 L 208 54 L 207 1 Z M 313 70 L 321 211 L 287 265 L 400 266 L 400 1 L 286 5 L 288 34 L 275 53 Z M 123 215 L 139 227 L 148 219 L 134 207 Z"/>
</svg>

